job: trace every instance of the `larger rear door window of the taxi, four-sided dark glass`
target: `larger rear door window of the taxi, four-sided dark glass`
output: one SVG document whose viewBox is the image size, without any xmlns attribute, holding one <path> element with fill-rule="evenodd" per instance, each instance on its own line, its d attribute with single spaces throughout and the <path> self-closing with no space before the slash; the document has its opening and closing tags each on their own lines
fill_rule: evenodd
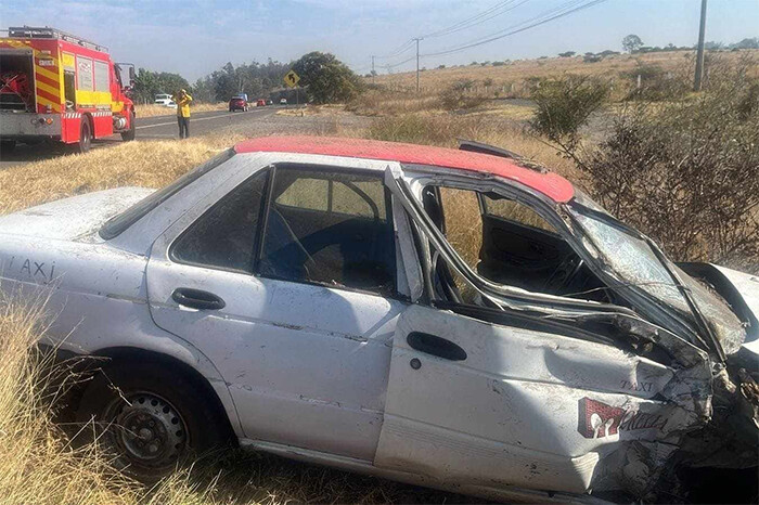
<svg viewBox="0 0 759 505">
<path fill-rule="evenodd" d="M 395 292 L 395 238 L 382 176 L 276 167 L 261 275 Z"/>
</svg>

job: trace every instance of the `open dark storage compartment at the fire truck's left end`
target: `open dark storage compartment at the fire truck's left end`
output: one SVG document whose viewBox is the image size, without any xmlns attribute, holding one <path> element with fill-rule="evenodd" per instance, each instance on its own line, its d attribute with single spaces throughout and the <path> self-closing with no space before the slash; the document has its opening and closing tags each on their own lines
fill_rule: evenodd
<svg viewBox="0 0 759 505">
<path fill-rule="evenodd" d="M 35 112 L 31 51 L 0 50 L 0 111 Z"/>
</svg>

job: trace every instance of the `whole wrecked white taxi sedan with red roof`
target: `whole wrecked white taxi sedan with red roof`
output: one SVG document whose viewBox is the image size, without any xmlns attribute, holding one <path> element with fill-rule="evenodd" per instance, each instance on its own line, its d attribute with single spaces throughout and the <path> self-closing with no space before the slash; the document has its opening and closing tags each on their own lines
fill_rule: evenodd
<svg viewBox="0 0 759 505">
<path fill-rule="evenodd" d="M 462 147 L 249 140 L 1 217 L 0 288 L 47 297 L 43 345 L 108 358 L 77 416 L 138 477 L 230 439 L 503 500 L 756 466 L 759 280 Z"/>
</svg>

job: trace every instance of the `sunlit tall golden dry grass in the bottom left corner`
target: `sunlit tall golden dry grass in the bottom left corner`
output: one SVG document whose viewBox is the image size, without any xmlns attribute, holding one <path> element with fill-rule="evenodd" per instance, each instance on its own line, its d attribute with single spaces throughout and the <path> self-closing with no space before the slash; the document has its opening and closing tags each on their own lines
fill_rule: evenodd
<svg viewBox="0 0 759 505">
<path fill-rule="evenodd" d="M 29 346 L 38 309 L 0 306 L 0 500 L 3 503 L 132 503 L 137 487 L 94 448 L 73 449 L 42 399 L 46 374 Z"/>
</svg>

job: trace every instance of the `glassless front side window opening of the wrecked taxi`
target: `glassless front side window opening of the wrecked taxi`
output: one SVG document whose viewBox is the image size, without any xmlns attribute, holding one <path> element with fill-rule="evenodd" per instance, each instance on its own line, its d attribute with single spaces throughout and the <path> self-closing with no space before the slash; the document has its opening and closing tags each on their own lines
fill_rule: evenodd
<svg viewBox="0 0 759 505">
<path fill-rule="evenodd" d="M 600 281 L 573 247 L 527 205 L 445 186 L 426 186 L 422 204 L 459 257 L 481 277 L 533 293 L 607 301 Z M 440 298 L 476 301 L 476 290 L 463 276 L 435 256 L 432 261 L 433 287 Z"/>
</svg>

